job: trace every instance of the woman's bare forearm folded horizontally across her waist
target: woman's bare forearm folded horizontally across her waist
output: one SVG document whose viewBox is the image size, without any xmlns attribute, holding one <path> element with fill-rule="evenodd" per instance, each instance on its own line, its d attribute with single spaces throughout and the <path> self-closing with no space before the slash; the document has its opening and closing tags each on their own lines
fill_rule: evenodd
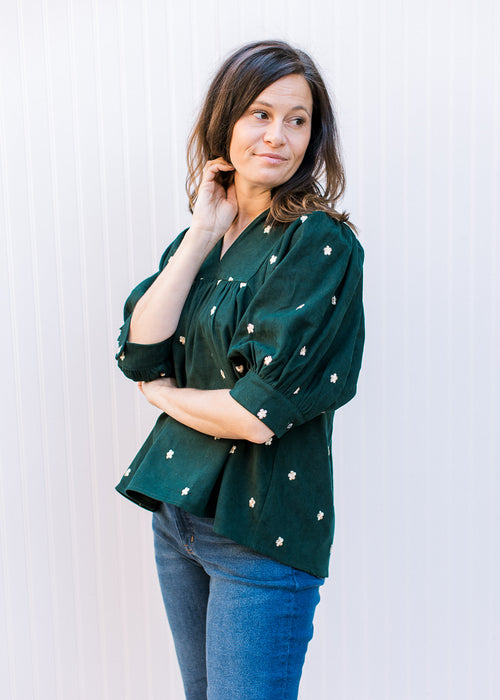
<svg viewBox="0 0 500 700">
<path fill-rule="evenodd" d="M 233 399 L 229 389 L 180 389 L 171 377 L 139 382 L 138 386 L 149 403 L 200 433 L 259 444 L 274 434 Z"/>
</svg>

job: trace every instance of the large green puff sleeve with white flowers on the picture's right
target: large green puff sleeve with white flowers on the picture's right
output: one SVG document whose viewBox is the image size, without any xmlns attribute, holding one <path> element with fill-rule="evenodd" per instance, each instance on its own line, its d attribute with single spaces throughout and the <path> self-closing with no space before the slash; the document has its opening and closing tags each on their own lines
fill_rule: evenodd
<svg viewBox="0 0 500 700">
<path fill-rule="evenodd" d="M 232 397 L 278 437 L 354 396 L 364 343 L 356 236 L 323 212 L 297 223 L 270 257 L 228 353 L 246 370 Z"/>
</svg>

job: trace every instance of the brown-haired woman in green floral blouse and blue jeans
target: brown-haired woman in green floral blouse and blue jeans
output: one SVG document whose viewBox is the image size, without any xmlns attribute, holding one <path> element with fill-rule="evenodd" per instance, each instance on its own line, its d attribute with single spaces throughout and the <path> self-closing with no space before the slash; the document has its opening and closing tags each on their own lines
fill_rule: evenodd
<svg viewBox="0 0 500 700">
<path fill-rule="evenodd" d="M 154 511 L 186 698 L 296 698 L 333 540 L 332 420 L 364 340 L 363 251 L 335 210 L 311 59 L 236 51 L 188 161 L 191 226 L 125 305 L 119 366 L 162 414 L 117 488 Z"/>
</svg>

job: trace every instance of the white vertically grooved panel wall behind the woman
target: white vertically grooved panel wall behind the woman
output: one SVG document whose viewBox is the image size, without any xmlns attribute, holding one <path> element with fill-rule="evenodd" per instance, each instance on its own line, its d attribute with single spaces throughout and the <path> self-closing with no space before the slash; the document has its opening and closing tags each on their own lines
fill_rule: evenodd
<svg viewBox="0 0 500 700">
<path fill-rule="evenodd" d="M 154 415 L 115 337 L 188 221 L 209 76 L 269 37 L 332 88 L 366 250 L 301 698 L 498 697 L 499 29 L 495 0 L 1 0 L 2 697 L 182 696 L 149 515 L 113 490 Z"/>
</svg>

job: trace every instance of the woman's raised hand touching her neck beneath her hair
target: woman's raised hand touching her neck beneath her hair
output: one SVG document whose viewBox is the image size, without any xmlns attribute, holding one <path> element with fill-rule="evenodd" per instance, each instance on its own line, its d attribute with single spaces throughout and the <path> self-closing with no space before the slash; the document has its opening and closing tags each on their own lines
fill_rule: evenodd
<svg viewBox="0 0 500 700">
<path fill-rule="evenodd" d="M 238 213 L 234 183 L 227 188 L 221 184 L 221 173 L 233 170 L 224 158 L 209 160 L 203 169 L 191 230 L 209 234 L 214 244 L 226 233 Z"/>
</svg>

